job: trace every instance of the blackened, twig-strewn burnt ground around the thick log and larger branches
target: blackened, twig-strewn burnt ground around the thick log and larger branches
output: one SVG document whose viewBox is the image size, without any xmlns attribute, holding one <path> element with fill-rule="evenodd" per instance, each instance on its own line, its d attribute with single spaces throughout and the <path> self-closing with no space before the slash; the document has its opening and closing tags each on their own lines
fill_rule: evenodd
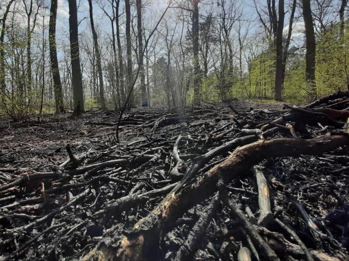
<svg viewBox="0 0 349 261">
<path fill-rule="evenodd" d="M 283 105 L 277 103 L 233 101 L 230 105 L 238 114 L 227 104 L 186 108 L 181 114 L 165 109 L 133 109 L 121 122 L 120 143 L 116 142 L 118 113 L 114 111 L 90 111 L 76 119 L 68 113 L 44 115 L 40 119 L 33 116 L 26 122 L 12 122 L 2 116 L 0 260 L 83 257 L 103 240 L 108 229 L 116 225 L 132 227 L 167 193 L 111 208 L 116 199 L 160 189 L 180 179 L 170 174 L 174 167 L 174 143 L 180 134 L 189 136 L 178 146 L 184 163 L 179 174 L 183 174 L 200 155 L 229 140 L 250 135 L 241 133 L 242 128 L 259 128 L 285 113 Z M 224 134 L 232 126 L 235 129 Z M 298 138 L 310 139 L 324 131 L 345 130 L 323 127 L 306 125 L 306 132 L 297 132 Z M 282 137 L 292 136 L 280 129 L 265 139 Z M 72 160 L 67 161 L 67 144 L 82 158 L 76 165 Z M 229 155 L 222 153 L 210 159 L 206 166 L 213 166 Z M 268 181 L 273 216 L 297 233 L 313 251 L 315 260 L 319 257 L 348 260 L 348 167 L 348 146 L 318 156 L 276 157 L 259 164 Z M 207 170 L 199 171 L 198 175 Z M 31 178 L 33 174 L 41 176 Z M 18 184 L 4 187 L 19 179 Z M 258 219 L 258 186 L 254 175 L 234 179 L 226 185 L 236 206 L 243 211 L 249 207 Z M 176 257 L 210 202 L 207 199 L 186 211 L 173 229 L 163 235 L 161 259 Z M 297 204 L 316 228 L 309 225 Z M 237 260 L 242 246 L 248 247 L 252 260 L 256 260 L 249 236 L 229 209 L 219 204 L 215 212 L 192 249 L 191 260 Z M 256 223 L 253 216 L 250 222 Z M 307 259 L 297 241 L 279 226 L 270 229 L 255 226 L 255 229 L 281 260 Z M 260 260 L 264 260 L 263 255 Z"/>
</svg>

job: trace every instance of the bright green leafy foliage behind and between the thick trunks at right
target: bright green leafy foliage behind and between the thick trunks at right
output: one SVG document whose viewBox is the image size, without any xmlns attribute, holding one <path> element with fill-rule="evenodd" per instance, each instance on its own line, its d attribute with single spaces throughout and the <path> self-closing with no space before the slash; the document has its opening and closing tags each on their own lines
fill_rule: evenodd
<svg viewBox="0 0 349 261">
<path fill-rule="evenodd" d="M 340 37 L 339 24 L 326 29 L 316 46 L 316 92 L 319 97 L 349 88 L 349 25 Z M 282 96 L 287 102 L 309 99 L 310 85 L 305 81 L 304 50 L 290 48 Z M 242 78 L 234 74 L 231 95 L 236 98 L 273 99 L 275 52 L 267 50 L 249 61 Z"/>
</svg>

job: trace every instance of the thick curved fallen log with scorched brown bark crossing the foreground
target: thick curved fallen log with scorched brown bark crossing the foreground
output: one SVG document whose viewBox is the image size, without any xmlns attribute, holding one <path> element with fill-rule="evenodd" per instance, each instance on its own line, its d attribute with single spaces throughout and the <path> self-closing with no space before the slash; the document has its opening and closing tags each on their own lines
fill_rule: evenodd
<svg viewBox="0 0 349 261">
<path fill-rule="evenodd" d="M 260 140 L 237 148 L 228 159 L 206 174 L 192 179 L 180 190 L 171 191 L 153 211 L 136 223 L 132 231 L 121 236 L 119 244 L 108 243 L 115 242 L 110 237 L 117 235 L 111 231 L 83 260 L 92 257 L 99 260 L 163 259 L 158 245 L 160 234 L 169 231 L 189 208 L 211 196 L 217 190 L 215 184 L 219 178 L 230 181 L 247 175 L 249 168 L 266 158 L 318 155 L 343 145 L 349 145 L 348 135 L 325 135 L 307 140 Z"/>
</svg>

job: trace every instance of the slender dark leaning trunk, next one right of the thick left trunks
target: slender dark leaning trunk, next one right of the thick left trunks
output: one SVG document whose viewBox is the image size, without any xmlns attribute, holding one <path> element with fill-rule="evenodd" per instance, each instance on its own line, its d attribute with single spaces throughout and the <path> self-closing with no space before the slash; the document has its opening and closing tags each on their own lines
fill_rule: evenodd
<svg viewBox="0 0 349 261">
<path fill-rule="evenodd" d="M 89 3 L 89 7 L 90 7 L 91 30 L 92 30 L 93 42 L 95 45 L 96 57 L 97 57 L 97 71 L 98 71 L 98 80 L 99 80 L 99 102 L 100 102 L 100 105 L 102 106 L 102 109 L 105 109 L 102 64 L 101 64 L 100 52 L 99 52 L 99 46 L 98 46 L 98 36 L 97 36 L 96 30 L 95 30 L 95 23 L 93 21 L 92 0 L 88 0 L 88 3 Z"/>
</svg>

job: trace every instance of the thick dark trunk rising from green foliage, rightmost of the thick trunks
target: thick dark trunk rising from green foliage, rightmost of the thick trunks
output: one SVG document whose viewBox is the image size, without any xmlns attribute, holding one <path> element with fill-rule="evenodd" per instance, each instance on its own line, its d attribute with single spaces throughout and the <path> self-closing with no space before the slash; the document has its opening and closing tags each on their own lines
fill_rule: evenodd
<svg viewBox="0 0 349 261">
<path fill-rule="evenodd" d="M 303 18 L 306 35 L 306 74 L 305 78 L 308 85 L 309 99 L 316 98 L 315 86 L 315 34 L 311 15 L 310 0 L 303 1 Z"/>
</svg>

